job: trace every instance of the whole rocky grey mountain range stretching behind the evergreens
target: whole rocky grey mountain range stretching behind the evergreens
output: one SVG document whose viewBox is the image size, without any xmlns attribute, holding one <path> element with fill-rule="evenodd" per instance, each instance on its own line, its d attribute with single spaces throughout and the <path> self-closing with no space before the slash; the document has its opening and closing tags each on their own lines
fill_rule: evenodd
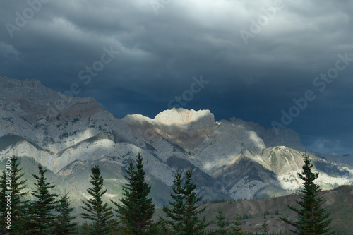
<svg viewBox="0 0 353 235">
<path fill-rule="evenodd" d="M 193 109 L 117 119 L 92 97 L 63 95 L 37 80 L 0 77 L 0 155 L 44 165 L 76 189 L 76 198 L 88 196 L 90 167 L 98 163 L 107 198 L 118 200 L 124 169 L 137 152 L 157 205 L 169 199 L 174 169 L 185 167 L 193 169 L 204 199 L 287 195 L 301 186 L 297 172 L 304 150 L 298 133 L 289 129 L 276 133 L 236 118 L 215 121 L 209 110 Z M 351 161 L 307 151 L 323 188 L 352 184 Z"/>
</svg>

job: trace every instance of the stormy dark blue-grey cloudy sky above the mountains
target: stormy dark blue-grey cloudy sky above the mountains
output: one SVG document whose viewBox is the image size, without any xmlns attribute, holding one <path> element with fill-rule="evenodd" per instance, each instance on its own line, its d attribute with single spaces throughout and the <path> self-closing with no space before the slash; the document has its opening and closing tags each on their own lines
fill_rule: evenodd
<svg viewBox="0 0 353 235">
<path fill-rule="evenodd" d="M 0 1 L 0 75 L 114 116 L 210 109 L 353 155 L 353 1 Z"/>
</svg>

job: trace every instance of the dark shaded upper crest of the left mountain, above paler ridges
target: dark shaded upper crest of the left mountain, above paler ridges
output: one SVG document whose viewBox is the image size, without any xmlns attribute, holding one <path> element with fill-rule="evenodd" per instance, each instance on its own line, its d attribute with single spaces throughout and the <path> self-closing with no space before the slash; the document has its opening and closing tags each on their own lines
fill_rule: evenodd
<svg viewBox="0 0 353 235">
<path fill-rule="evenodd" d="M 104 111 L 92 97 L 71 97 L 45 87 L 39 80 L 16 80 L 0 76 L 3 112 L 20 114 L 30 123 L 58 116 L 91 115 Z"/>
</svg>

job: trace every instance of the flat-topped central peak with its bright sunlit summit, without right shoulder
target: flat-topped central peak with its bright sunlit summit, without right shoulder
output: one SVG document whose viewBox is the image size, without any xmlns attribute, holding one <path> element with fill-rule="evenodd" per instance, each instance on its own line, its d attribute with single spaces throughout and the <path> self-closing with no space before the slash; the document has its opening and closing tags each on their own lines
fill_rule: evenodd
<svg viewBox="0 0 353 235">
<path fill-rule="evenodd" d="M 174 145 L 167 155 L 164 153 L 164 159 L 177 152 L 177 148 L 181 148 L 181 152 L 191 152 L 219 127 L 210 110 L 171 109 L 160 112 L 154 119 L 128 115 L 122 120 L 146 143 L 161 151 L 167 145 Z"/>
</svg>

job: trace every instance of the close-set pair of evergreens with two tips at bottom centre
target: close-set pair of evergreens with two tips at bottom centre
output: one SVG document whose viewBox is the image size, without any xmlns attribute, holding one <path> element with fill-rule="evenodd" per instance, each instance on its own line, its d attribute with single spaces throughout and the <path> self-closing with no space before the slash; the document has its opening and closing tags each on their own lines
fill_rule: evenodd
<svg viewBox="0 0 353 235">
<path fill-rule="evenodd" d="M 186 169 L 186 180 L 184 186 L 181 186 L 181 173 L 177 171 L 174 179 L 174 188 L 171 192 L 175 202 L 169 202 L 172 209 L 163 207 L 164 213 L 170 220 L 162 221 L 172 234 L 203 234 L 205 228 L 210 224 L 210 222 L 206 222 L 205 217 L 198 219 L 198 215 L 205 208 L 199 209 L 198 203 L 202 200 L 202 197 L 197 197 L 195 192 L 196 184 L 191 182 L 192 175 L 191 169 Z"/>
</svg>

